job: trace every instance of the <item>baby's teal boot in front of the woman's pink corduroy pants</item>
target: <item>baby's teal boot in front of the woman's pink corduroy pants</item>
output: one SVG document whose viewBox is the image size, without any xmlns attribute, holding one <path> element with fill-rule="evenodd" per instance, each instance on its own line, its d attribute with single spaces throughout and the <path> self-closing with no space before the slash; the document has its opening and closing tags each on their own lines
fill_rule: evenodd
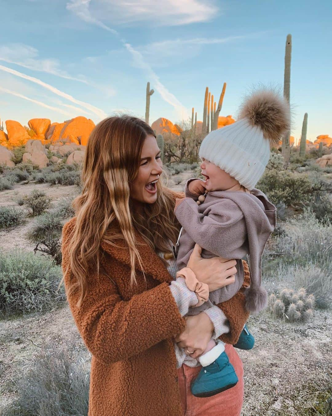
<svg viewBox="0 0 332 416">
<path fill-rule="evenodd" d="M 196 397 L 214 396 L 235 386 L 238 381 L 234 367 L 224 351 L 212 364 L 202 367 L 191 383 L 191 393 Z"/>
</svg>

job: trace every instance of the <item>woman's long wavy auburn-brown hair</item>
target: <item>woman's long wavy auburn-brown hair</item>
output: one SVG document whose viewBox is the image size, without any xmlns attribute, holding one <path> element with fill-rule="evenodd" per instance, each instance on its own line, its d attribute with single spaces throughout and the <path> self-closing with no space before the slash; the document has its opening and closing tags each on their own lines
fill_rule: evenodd
<svg viewBox="0 0 332 416">
<path fill-rule="evenodd" d="M 79 289 L 80 307 L 87 292 L 89 267 L 100 270 L 100 243 L 116 246 L 124 239 L 129 248 L 130 282 L 136 283 L 135 264 L 144 269 L 137 250 L 137 233 L 152 250 L 169 250 L 178 233 L 171 195 L 161 181 L 157 183 L 157 199 L 143 204 L 143 210 L 132 209 L 130 184 L 136 178 L 146 136 L 156 137 L 151 127 L 132 116 L 115 116 L 100 121 L 91 132 L 83 160 L 81 195 L 73 200 L 76 223 L 68 239 L 68 267 L 73 283 L 67 295 Z M 115 227 L 110 227 L 116 225 Z M 68 292 L 69 291 L 69 292 Z"/>
</svg>

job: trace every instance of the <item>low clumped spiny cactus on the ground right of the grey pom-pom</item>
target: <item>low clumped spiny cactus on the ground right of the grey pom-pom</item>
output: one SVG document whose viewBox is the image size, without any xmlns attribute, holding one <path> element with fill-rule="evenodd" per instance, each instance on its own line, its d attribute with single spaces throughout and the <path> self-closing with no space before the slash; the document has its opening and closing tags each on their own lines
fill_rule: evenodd
<svg viewBox="0 0 332 416">
<path fill-rule="evenodd" d="M 304 288 L 294 292 L 293 289 L 283 289 L 278 296 L 269 296 L 268 308 L 278 318 L 289 322 L 308 322 L 313 316 L 315 296 L 307 295 Z"/>
</svg>

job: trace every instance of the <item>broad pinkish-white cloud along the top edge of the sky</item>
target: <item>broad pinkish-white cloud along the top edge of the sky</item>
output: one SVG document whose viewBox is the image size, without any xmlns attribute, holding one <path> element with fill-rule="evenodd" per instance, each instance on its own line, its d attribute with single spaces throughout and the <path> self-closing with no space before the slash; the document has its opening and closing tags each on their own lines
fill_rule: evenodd
<svg viewBox="0 0 332 416">
<path fill-rule="evenodd" d="M 67 9 L 85 22 L 95 23 L 112 31 L 107 24 L 149 22 L 154 26 L 188 25 L 208 22 L 220 12 L 216 1 L 206 0 L 71 0 Z"/>
</svg>

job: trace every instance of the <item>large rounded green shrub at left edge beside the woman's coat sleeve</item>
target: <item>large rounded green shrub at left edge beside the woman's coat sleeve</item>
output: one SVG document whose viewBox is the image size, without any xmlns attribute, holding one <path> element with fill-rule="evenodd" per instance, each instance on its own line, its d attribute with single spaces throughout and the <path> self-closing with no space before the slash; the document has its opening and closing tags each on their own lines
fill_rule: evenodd
<svg viewBox="0 0 332 416">
<path fill-rule="evenodd" d="M 43 312 L 65 300 L 61 267 L 50 258 L 15 250 L 0 253 L 0 316 Z"/>
</svg>

